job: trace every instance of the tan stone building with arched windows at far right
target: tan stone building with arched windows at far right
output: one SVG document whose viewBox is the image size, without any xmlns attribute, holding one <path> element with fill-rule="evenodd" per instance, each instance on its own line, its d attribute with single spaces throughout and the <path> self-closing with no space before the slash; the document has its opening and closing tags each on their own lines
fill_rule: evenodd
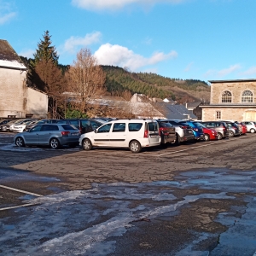
<svg viewBox="0 0 256 256">
<path fill-rule="evenodd" d="M 256 79 L 214 80 L 202 120 L 256 121 Z"/>
</svg>

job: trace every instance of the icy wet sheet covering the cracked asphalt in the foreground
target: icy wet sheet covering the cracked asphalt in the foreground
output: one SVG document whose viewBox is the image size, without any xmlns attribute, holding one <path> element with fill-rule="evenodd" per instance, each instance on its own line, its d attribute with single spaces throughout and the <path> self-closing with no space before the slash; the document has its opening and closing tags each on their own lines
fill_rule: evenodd
<svg viewBox="0 0 256 256">
<path fill-rule="evenodd" d="M 122 241 L 127 231 L 132 235 L 139 220 L 149 219 L 154 223 L 164 216 L 171 222 L 184 207 L 191 207 L 197 201 L 239 200 L 244 204 L 219 212 L 214 220 L 224 225 L 226 231 L 214 234 L 194 230 L 196 238 L 183 244 L 175 255 L 253 255 L 256 251 L 255 182 L 256 172 L 206 170 L 182 172 L 175 181 L 94 183 L 88 190 L 26 200 L 35 206 L 16 209 L 18 214 L 13 219 L 0 219 L 0 226 L 15 226 L 14 230 L 0 230 L 0 247 L 6 255 L 19 252 L 22 252 L 19 255 L 38 256 L 107 255 L 122 246 L 117 240 Z M 186 189 L 187 194 L 178 198 L 174 193 L 177 189 Z M 189 195 L 189 191 L 194 192 Z M 219 237 L 215 247 L 202 247 L 216 236 Z M 151 255 L 150 251 L 147 255 Z"/>
</svg>

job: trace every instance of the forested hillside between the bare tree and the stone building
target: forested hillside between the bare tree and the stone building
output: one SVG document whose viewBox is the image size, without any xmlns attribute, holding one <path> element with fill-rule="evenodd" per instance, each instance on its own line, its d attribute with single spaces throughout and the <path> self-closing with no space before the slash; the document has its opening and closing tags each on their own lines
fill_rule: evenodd
<svg viewBox="0 0 256 256">
<path fill-rule="evenodd" d="M 143 93 L 149 97 L 172 97 L 177 102 L 209 102 L 210 86 L 201 80 L 170 79 L 156 73 L 131 73 L 121 67 L 102 66 L 107 74 L 107 88 L 112 95 L 122 95 L 125 90 Z"/>
</svg>

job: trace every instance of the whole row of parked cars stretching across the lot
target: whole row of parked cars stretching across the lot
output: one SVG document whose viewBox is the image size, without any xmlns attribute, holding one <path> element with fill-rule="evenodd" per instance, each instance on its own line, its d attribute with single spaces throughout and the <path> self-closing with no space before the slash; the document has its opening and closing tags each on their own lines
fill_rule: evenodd
<svg viewBox="0 0 256 256">
<path fill-rule="evenodd" d="M 219 140 L 256 131 L 255 122 L 192 121 L 178 119 L 16 119 L 0 121 L 0 131 L 15 131 L 15 144 L 60 148 L 80 145 L 142 148 Z"/>
</svg>

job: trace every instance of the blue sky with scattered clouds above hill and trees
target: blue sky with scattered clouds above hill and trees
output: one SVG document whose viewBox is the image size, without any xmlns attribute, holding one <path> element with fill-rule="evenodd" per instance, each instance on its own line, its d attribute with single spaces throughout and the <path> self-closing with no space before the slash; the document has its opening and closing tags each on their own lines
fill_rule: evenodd
<svg viewBox="0 0 256 256">
<path fill-rule="evenodd" d="M 88 48 L 131 72 L 255 79 L 255 10 L 255 0 L 0 0 L 0 38 L 32 57 L 49 30 L 61 64 Z"/>
</svg>

